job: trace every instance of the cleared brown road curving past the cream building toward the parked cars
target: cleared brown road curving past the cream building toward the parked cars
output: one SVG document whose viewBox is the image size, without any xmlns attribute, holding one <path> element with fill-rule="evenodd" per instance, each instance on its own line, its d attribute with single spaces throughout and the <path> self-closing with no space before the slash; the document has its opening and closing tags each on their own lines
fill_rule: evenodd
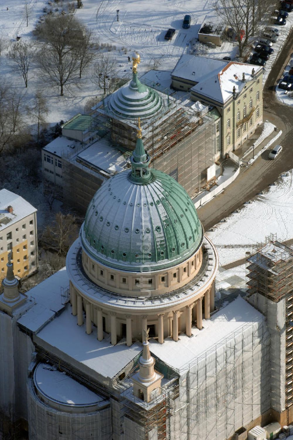
<svg viewBox="0 0 293 440">
<path fill-rule="evenodd" d="M 264 151 L 252 165 L 242 168 L 237 179 L 221 194 L 197 210 L 205 231 L 265 190 L 282 172 L 293 169 L 293 108 L 278 101 L 274 92 L 292 50 L 293 29 L 263 88 L 263 121 L 268 119 L 282 130 L 278 143 L 283 151 L 274 161 L 268 159 L 269 151 Z"/>
</svg>

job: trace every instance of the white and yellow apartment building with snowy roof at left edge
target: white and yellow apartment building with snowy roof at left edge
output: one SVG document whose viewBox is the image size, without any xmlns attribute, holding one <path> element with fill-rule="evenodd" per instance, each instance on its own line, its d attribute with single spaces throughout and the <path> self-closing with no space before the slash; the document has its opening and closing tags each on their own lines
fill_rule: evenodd
<svg viewBox="0 0 293 440">
<path fill-rule="evenodd" d="M 37 271 L 37 209 L 22 197 L 0 190 L 0 279 L 7 271 L 8 253 L 18 278 Z"/>
</svg>

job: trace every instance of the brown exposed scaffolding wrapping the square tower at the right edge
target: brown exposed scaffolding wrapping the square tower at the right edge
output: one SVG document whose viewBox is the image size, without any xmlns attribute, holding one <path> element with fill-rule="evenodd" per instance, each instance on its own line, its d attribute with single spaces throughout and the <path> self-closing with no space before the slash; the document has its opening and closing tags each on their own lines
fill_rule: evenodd
<svg viewBox="0 0 293 440">
<path fill-rule="evenodd" d="M 282 243 L 277 235 L 257 243 L 246 262 L 248 294 L 264 297 L 268 304 L 285 302 L 285 407 L 293 404 L 293 248 Z M 258 296 L 256 295 L 256 301 Z M 256 304 L 257 307 L 257 304 Z M 277 309 L 275 309 L 277 310 Z M 278 324 L 276 325 L 277 330 Z"/>
</svg>

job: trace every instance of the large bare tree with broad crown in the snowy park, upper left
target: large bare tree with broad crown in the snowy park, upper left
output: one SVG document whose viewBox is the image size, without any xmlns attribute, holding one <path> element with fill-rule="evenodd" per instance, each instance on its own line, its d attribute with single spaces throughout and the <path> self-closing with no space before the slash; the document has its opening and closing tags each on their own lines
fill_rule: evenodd
<svg viewBox="0 0 293 440">
<path fill-rule="evenodd" d="M 41 37 L 45 40 L 39 62 L 51 84 L 64 88 L 77 84 L 79 70 L 78 40 L 83 38 L 83 26 L 73 15 L 48 16 L 41 26 Z"/>
</svg>

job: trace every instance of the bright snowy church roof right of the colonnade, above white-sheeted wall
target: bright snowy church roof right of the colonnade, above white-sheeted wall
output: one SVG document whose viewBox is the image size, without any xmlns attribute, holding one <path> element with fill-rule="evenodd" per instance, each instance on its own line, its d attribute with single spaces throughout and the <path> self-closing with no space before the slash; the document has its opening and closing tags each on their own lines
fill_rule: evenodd
<svg viewBox="0 0 293 440">
<path fill-rule="evenodd" d="M 193 337 L 180 335 L 178 342 L 164 339 L 163 345 L 151 339 L 152 354 L 177 370 L 185 370 L 204 352 L 226 344 L 229 335 L 242 332 L 247 326 L 261 323 L 264 316 L 241 297 L 215 313 L 210 320 L 203 320 L 203 330 L 192 328 Z"/>
</svg>

